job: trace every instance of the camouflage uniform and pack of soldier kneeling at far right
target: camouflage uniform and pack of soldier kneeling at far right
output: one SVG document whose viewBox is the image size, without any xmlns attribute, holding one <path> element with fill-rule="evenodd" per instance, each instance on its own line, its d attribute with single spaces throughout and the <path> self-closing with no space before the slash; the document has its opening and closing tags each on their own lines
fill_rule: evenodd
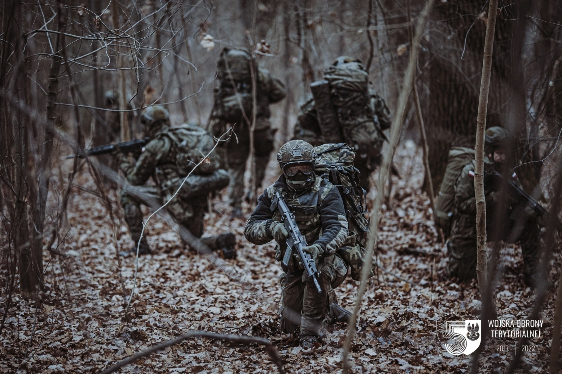
<svg viewBox="0 0 562 374">
<path fill-rule="evenodd" d="M 484 170 L 494 168 L 487 158 Z M 518 182 L 519 183 L 519 182 Z M 486 197 L 486 226 L 488 238 L 498 233 L 506 238 L 513 221 L 510 219 L 513 205 L 509 205 L 503 220 L 497 221 L 496 210 L 500 200 L 500 192 L 484 178 L 484 196 Z M 540 228 L 536 219 L 529 219 L 525 229 L 519 236 L 519 244 L 523 254 L 523 271 L 525 278 L 533 276 L 541 253 Z M 447 243 L 448 265 L 450 276 L 468 281 L 476 276 L 476 199 L 474 197 L 474 162 L 466 165 L 455 184 L 455 213 L 452 221 L 451 237 Z"/>
</svg>

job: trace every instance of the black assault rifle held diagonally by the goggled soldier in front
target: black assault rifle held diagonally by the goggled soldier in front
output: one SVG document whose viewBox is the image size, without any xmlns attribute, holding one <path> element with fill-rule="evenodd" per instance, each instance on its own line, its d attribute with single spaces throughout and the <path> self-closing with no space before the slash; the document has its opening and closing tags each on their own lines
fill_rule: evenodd
<svg viewBox="0 0 562 374">
<path fill-rule="evenodd" d="M 283 200 L 279 192 L 275 192 L 271 210 L 273 211 L 277 208 L 279 208 L 279 212 L 281 213 L 281 220 L 285 225 L 285 229 L 287 229 L 289 233 L 289 237 L 287 238 L 287 250 L 283 257 L 283 265 L 289 266 L 293 251 L 297 250 L 298 256 L 301 257 L 302 265 L 305 267 L 306 274 L 314 281 L 318 293 L 321 293 L 322 289 L 318 283 L 318 276 L 320 273 L 316 270 L 316 264 L 312 261 L 310 253 L 302 251 L 302 248 L 306 247 L 308 244 L 306 244 L 305 238 L 302 237 L 301 230 L 298 229 L 297 222 L 294 220 L 294 214 L 291 213 L 287 203 Z"/>
</svg>

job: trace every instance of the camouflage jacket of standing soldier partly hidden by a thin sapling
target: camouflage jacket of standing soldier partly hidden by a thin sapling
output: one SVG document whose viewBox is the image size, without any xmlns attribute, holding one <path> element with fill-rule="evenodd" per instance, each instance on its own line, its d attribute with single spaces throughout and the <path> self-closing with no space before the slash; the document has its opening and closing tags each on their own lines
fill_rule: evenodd
<svg viewBox="0 0 562 374">
<path fill-rule="evenodd" d="M 252 85 L 251 81 L 235 82 L 237 89 L 234 90 L 232 81 L 229 79 L 220 80 L 218 87 L 214 91 L 214 104 L 209 118 L 209 129 L 212 135 L 219 137 L 226 131 L 227 122 L 224 121 L 225 107 L 238 107 L 242 103 L 244 112 L 248 119 L 252 118 Z M 238 93 L 238 95 L 236 95 Z M 257 112 L 256 130 L 262 130 L 271 126 L 269 117 L 271 112 L 269 105 L 283 100 L 287 96 L 285 85 L 277 77 L 262 67 L 258 68 L 257 76 Z M 243 116 L 235 121 L 239 126 L 245 126 L 246 121 Z M 231 123 L 232 124 L 232 123 Z"/>
</svg>

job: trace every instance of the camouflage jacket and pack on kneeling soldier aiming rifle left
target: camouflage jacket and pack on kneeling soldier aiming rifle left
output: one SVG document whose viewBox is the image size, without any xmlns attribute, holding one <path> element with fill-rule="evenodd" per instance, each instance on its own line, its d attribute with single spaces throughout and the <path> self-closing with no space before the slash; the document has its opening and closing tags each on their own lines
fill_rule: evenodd
<svg viewBox="0 0 562 374">
<path fill-rule="evenodd" d="M 133 186 L 140 186 L 152 177 L 161 190 L 179 186 L 203 155 L 214 145 L 212 136 L 203 128 L 193 124 L 165 127 L 144 147 L 134 165 L 121 157 L 121 169 Z M 219 156 L 213 152 L 193 174 L 210 174 L 219 168 Z"/>
</svg>

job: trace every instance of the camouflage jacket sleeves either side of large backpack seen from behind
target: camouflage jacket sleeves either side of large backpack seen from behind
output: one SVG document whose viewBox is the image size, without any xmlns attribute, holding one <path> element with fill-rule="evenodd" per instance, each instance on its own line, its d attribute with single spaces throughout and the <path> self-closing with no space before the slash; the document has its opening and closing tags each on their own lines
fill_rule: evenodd
<svg viewBox="0 0 562 374">
<path fill-rule="evenodd" d="M 369 95 L 371 98 L 371 110 L 369 112 L 373 113 L 373 122 L 379 130 L 386 130 L 392 122 L 386 101 L 373 90 L 369 90 Z M 309 142 L 315 147 L 324 144 L 318 123 L 318 115 L 314 107 L 314 98 L 301 105 L 297 123 L 294 126 L 293 138 Z"/>
</svg>

